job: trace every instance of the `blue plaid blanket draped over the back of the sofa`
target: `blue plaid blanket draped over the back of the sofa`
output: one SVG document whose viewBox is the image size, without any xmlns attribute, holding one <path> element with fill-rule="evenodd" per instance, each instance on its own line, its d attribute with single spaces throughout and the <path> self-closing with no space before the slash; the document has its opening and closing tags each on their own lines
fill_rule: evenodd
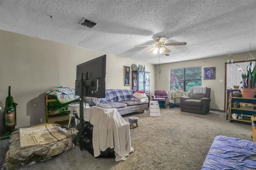
<svg viewBox="0 0 256 170">
<path fill-rule="evenodd" d="M 124 100 L 131 100 L 134 90 L 127 89 L 106 89 L 105 98 L 100 98 L 100 103 L 120 102 Z"/>
</svg>

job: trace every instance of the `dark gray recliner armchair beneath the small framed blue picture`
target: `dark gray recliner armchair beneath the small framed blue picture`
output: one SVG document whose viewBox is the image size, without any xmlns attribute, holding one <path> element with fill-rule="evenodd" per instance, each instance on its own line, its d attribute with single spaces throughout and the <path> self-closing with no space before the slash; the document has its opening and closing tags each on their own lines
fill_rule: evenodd
<svg viewBox="0 0 256 170">
<path fill-rule="evenodd" d="M 205 94 L 194 93 L 193 89 L 189 89 L 188 97 L 180 97 L 180 110 L 205 115 L 210 110 L 211 88 L 206 87 Z"/>
</svg>

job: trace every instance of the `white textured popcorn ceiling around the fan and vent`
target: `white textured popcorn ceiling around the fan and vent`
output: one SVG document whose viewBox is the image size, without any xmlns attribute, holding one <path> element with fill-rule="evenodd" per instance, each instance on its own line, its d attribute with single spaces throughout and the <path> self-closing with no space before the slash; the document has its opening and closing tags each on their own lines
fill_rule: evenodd
<svg viewBox="0 0 256 170">
<path fill-rule="evenodd" d="M 0 0 L 0 14 L 3 30 L 152 64 L 256 50 L 256 0 Z M 135 47 L 157 36 L 187 45 Z"/>
</svg>

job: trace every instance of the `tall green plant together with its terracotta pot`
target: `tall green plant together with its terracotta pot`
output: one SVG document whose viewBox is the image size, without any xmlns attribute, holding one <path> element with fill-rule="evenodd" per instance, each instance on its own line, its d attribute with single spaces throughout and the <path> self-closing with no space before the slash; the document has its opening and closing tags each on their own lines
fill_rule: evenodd
<svg viewBox="0 0 256 170">
<path fill-rule="evenodd" d="M 236 64 L 237 65 L 237 64 Z M 237 65 L 239 66 L 239 65 Z M 239 66 L 240 67 L 240 66 Z M 244 98 L 254 98 L 256 92 L 256 66 L 252 66 L 252 62 L 247 66 L 247 72 L 240 67 L 238 71 L 242 71 L 241 78 L 243 87 L 240 88 L 242 92 L 242 97 Z"/>
</svg>

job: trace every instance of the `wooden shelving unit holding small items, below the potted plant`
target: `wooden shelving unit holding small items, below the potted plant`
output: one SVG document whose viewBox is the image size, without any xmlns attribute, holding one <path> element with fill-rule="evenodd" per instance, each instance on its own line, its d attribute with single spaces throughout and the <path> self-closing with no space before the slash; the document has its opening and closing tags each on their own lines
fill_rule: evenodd
<svg viewBox="0 0 256 170">
<path fill-rule="evenodd" d="M 240 105 L 237 107 L 234 107 L 234 102 L 237 102 L 237 103 L 243 102 L 243 103 L 248 103 L 248 104 L 250 103 L 250 104 L 254 104 L 256 106 L 256 98 L 233 97 L 232 94 L 233 93 L 230 93 L 228 122 L 230 122 L 232 120 L 232 121 L 243 121 L 243 122 L 251 123 L 252 122 L 251 117 L 246 116 L 246 118 L 244 118 L 242 115 L 249 115 L 249 116 L 255 115 L 256 109 L 253 109 L 253 108 L 247 109 L 244 107 L 240 107 Z M 238 118 L 234 119 L 232 117 L 233 113 L 240 115 L 240 117 L 242 119 L 238 119 Z"/>
</svg>

